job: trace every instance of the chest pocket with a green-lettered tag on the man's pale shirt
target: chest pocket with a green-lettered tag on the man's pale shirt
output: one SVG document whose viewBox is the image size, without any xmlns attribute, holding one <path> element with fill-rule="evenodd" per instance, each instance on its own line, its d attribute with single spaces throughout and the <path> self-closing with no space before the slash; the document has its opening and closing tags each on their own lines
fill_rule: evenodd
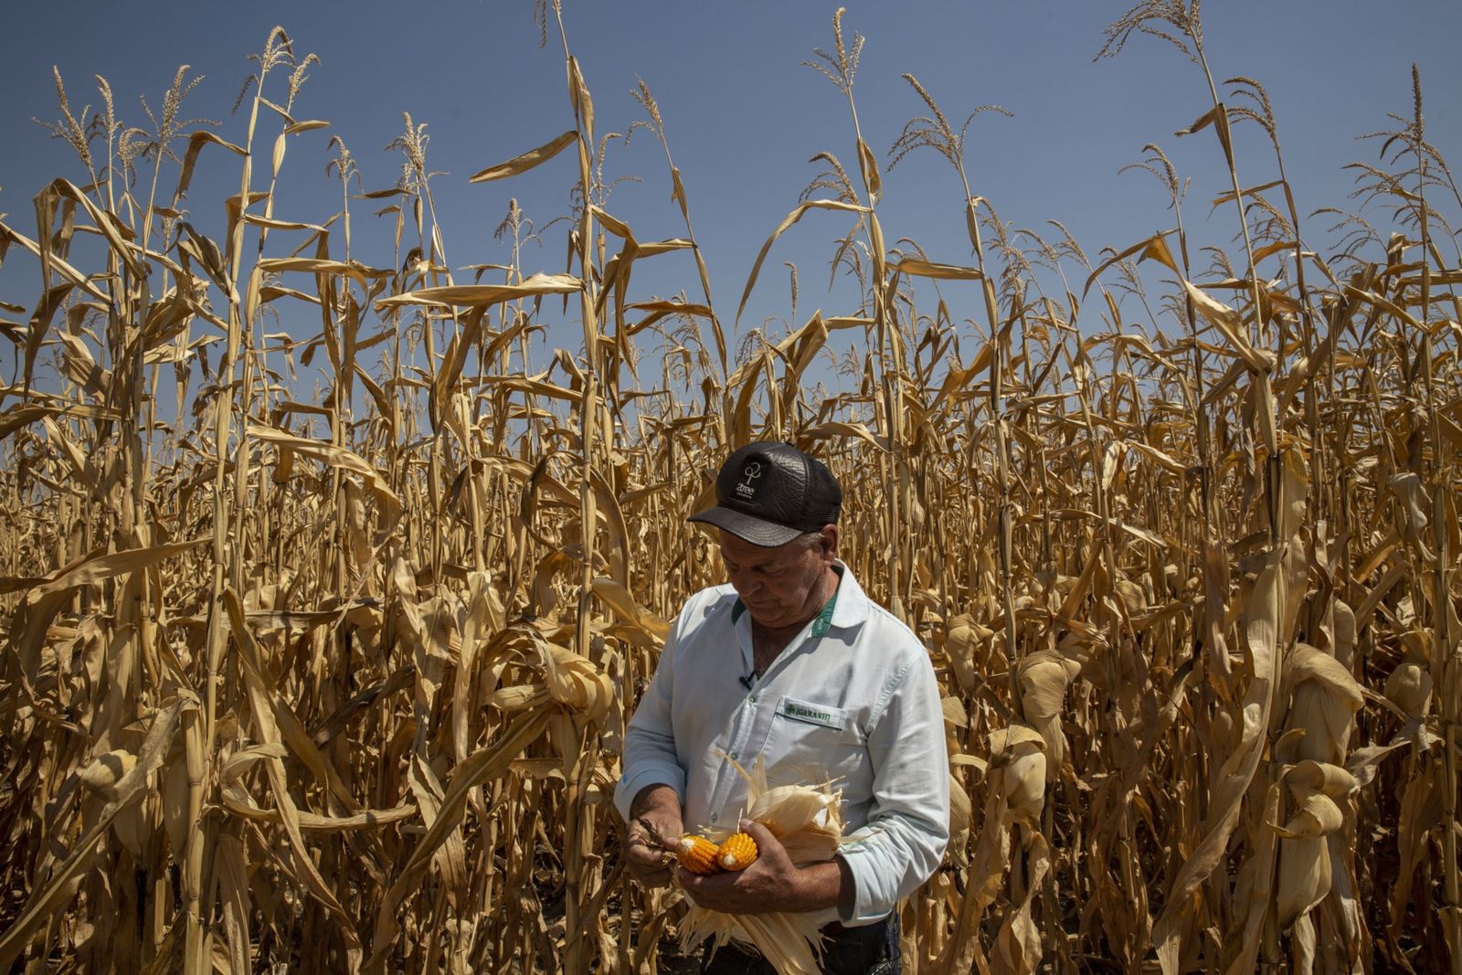
<svg viewBox="0 0 1462 975">
<path fill-rule="evenodd" d="M 871 782 L 868 740 L 844 707 L 784 696 L 762 754 L 770 785 L 863 786 Z"/>
</svg>

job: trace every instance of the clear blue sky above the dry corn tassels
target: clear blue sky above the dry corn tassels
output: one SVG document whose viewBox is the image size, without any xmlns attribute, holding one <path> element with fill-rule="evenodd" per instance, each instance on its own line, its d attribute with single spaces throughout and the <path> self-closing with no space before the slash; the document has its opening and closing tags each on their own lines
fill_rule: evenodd
<svg viewBox="0 0 1462 975">
<path fill-rule="evenodd" d="M 966 165 L 974 193 L 988 197 L 1015 227 L 1042 228 L 1058 219 L 1095 259 L 1107 246 L 1126 247 L 1171 225 L 1162 189 L 1139 172 L 1118 170 L 1161 145 L 1184 177 L 1193 178 L 1186 213 L 1202 224 L 1209 200 L 1228 189 L 1212 130 L 1177 139 L 1209 105 L 1200 72 L 1164 42 L 1133 37 L 1116 58 L 1094 63 L 1101 28 L 1129 4 L 1108 1 L 1026 3 L 852 0 L 844 25 L 866 35 L 854 88 L 867 142 L 887 168 L 887 151 L 905 120 L 924 114 L 899 77 L 909 72 L 946 114 L 962 120 L 974 107 L 997 104 L 1013 118 L 980 115 L 971 130 Z M 643 113 L 630 98 L 636 77 L 654 91 L 671 151 L 689 194 L 696 234 L 712 273 L 716 307 L 734 314 L 762 241 L 797 205 L 819 171 L 808 158 L 838 155 L 855 172 L 846 104 L 820 75 L 803 66 L 814 47 L 830 50 L 833 3 L 803 0 L 566 0 L 572 51 L 583 64 L 595 99 L 598 132 L 627 132 Z M 1285 165 L 1301 215 L 1317 206 L 1354 206 L 1347 199 L 1355 159 L 1376 161 L 1377 143 L 1357 136 L 1389 127 L 1386 113 L 1409 113 L 1411 64 L 1421 69 L 1431 142 L 1462 165 L 1462 3 L 1427 0 L 1211 0 L 1205 4 L 1206 47 L 1215 76 L 1259 79 L 1278 115 Z M 421 4 L 357 3 L 199 3 L 146 0 L 101 3 L 54 0 L 7 3 L 0 34 L 0 212 L 35 234 L 31 197 L 56 175 L 83 183 L 63 143 L 47 139 L 32 117 L 57 117 L 51 66 L 66 79 L 73 107 L 99 102 L 92 82 L 104 75 L 130 124 L 146 124 L 137 102 L 156 108 L 178 64 L 205 80 L 186 102 L 187 115 L 222 121 L 219 134 L 241 140 L 243 113 L 230 107 L 269 28 L 281 23 L 297 54 L 314 53 L 295 108 L 300 118 L 329 120 L 330 129 L 291 139 L 276 215 L 319 222 L 339 206 L 338 187 L 325 181 L 329 136 L 355 153 L 367 190 L 387 189 L 399 155 L 382 148 L 402 130 L 402 113 L 427 123 L 430 168 L 453 266 L 500 262 L 506 251 L 491 237 L 509 197 L 539 225 L 569 208 L 576 180 L 572 153 L 529 177 L 469 186 L 468 177 L 547 142 L 573 126 L 561 48 L 550 35 L 539 48 L 532 1 L 439 0 Z M 265 129 L 272 139 L 273 127 Z M 1275 177 L 1272 155 L 1257 129 L 1240 130 L 1240 175 L 1249 184 Z M 262 142 L 268 148 L 268 140 Z M 611 151 L 610 175 L 639 177 L 610 199 L 610 212 L 640 240 L 681 235 L 658 145 L 640 133 Z M 175 174 L 165 175 L 171 187 Z M 208 152 L 190 194 L 194 222 L 218 232 L 221 199 L 237 191 L 238 165 Z M 224 190 L 222 187 L 232 187 Z M 368 263 L 390 263 L 386 227 L 371 227 L 355 205 L 355 246 Z M 943 159 L 915 153 L 885 172 L 880 213 L 892 244 L 917 240 L 936 260 L 966 263 L 969 246 L 962 191 Z M 1323 218 L 1306 234 L 1323 243 Z M 561 270 L 564 227 L 557 225 L 529 269 Z M 849 308 L 826 292 L 832 241 L 845 227 L 839 215 L 813 215 L 773 249 L 768 272 L 741 323 L 789 316 L 787 270 L 801 270 L 800 316 L 825 307 Z M 1231 209 L 1194 235 L 1231 246 Z M 284 244 L 281 244 L 282 247 Z M 637 270 L 636 297 L 684 289 L 699 297 L 689 260 L 661 259 L 659 270 Z M 643 273 L 643 276 L 640 276 Z M 0 297 L 34 303 L 35 262 L 10 251 L 0 268 Z M 306 285 L 308 287 L 308 285 Z M 963 292 L 947 292 L 963 294 Z M 978 317 L 975 295 L 956 317 Z M 319 327 L 300 311 L 300 330 Z M 570 338 L 566 345 L 577 346 Z M 558 344 L 558 339 L 554 339 Z M 9 346 L 9 344 L 0 344 Z M 0 349 L 0 364 L 13 361 Z M 9 373 L 9 368 L 6 368 Z"/>
</svg>

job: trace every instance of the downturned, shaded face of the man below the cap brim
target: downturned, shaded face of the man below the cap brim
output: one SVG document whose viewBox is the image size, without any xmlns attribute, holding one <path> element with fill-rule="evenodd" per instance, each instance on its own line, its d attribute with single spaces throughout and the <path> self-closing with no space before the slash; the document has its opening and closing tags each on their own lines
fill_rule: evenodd
<svg viewBox="0 0 1462 975">
<path fill-rule="evenodd" d="M 741 596 L 751 618 L 769 629 L 813 618 L 825 592 L 823 576 L 838 554 L 838 526 L 827 525 L 808 545 L 801 538 L 763 548 L 721 531 L 721 560 L 727 580 Z"/>
</svg>

